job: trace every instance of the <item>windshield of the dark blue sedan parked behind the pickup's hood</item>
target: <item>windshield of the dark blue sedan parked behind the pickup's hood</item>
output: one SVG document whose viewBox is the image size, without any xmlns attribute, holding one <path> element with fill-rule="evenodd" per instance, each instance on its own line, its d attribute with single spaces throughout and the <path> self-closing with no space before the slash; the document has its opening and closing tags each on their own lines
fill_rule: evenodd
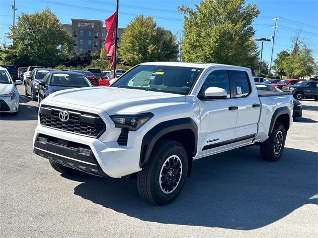
<svg viewBox="0 0 318 238">
<path fill-rule="evenodd" d="M 51 79 L 51 86 L 80 88 L 91 87 L 91 83 L 83 75 L 55 73 Z"/>
</svg>

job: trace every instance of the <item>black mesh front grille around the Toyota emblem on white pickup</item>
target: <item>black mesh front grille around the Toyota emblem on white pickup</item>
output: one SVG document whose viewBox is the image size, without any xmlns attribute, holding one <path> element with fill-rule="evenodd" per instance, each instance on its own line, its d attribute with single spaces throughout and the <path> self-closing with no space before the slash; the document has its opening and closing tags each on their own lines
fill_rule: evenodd
<svg viewBox="0 0 318 238">
<path fill-rule="evenodd" d="M 70 115 L 68 121 L 62 121 L 59 117 L 63 110 L 68 111 Z M 105 122 L 96 114 L 53 108 L 46 105 L 40 108 L 40 123 L 44 126 L 89 137 L 99 137 L 106 129 Z"/>
</svg>

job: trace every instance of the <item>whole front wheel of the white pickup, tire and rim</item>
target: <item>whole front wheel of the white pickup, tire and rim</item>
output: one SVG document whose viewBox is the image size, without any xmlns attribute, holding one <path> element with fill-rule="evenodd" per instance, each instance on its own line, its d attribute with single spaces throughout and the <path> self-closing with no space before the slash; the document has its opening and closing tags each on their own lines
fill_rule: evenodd
<svg viewBox="0 0 318 238">
<path fill-rule="evenodd" d="M 159 141 L 149 162 L 137 174 L 139 194 L 156 205 L 172 202 L 181 192 L 188 172 L 188 157 L 182 144 Z"/>
</svg>

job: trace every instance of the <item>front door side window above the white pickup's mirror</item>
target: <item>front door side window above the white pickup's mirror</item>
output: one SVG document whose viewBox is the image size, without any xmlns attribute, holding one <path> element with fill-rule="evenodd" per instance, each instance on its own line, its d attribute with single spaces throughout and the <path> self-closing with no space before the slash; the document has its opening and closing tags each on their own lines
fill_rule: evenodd
<svg viewBox="0 0 318 238">
<path fill-rule="evenodd" d="M 215 70 L 211 72 L 204 81 L 201 88 L 201 93 L 209 87 L 223 88 L 227 91 L 228 98 L 231 97 L 230 80 L 227 70 Z"/>
</svg>

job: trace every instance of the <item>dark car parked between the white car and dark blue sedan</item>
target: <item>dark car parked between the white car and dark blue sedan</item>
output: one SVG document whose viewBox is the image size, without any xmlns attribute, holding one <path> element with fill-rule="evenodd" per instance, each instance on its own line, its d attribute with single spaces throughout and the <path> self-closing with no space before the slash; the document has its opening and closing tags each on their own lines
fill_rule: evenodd
<svg viewBox="0 0 318 238">
<path fill-rule="evenodd" d="M 43 80 L 44 76 L 54 69 L 51 68 L 33 68 L 29 77 L 26 78 L 24 84 L 25 95 L 31 95 L 31 100 L 36 101 L 39 94 L 39 83 Z"/>
</svg>

